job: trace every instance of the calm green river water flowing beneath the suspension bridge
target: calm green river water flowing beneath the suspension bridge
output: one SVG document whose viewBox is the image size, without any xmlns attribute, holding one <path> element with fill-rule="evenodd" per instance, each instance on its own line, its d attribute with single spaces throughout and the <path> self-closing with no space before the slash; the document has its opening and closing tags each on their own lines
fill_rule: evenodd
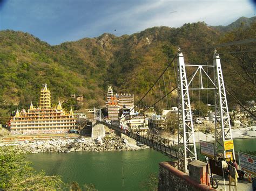
<svg viewBox="0 0 256 191">
<path fill-rule="evenodd" d="M 256 151 L 256 139 L 234 139 L 235 151 Z M 158 173 L 158 163 L 170 160 L 152 149 L 139 151 L 72 152 L 29 154 L 37 170 L 61 175 L 64 182 L 80 186 L 93 183 L 98 190 L 142 190 L 149 174 Z M 123 172 L 124 187 L 123 187 Z"/>
</svg>

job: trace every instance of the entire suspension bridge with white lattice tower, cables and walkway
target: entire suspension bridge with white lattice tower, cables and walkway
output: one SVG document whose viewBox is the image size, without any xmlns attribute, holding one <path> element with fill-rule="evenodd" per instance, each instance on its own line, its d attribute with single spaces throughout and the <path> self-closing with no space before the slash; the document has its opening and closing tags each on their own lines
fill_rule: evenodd
<svg viewBox="0 0 256 191">
<path fill-rule="evenodd" d="M 177 65 L 174 64 L 175 61 Z M 224 148 L 224 143 L 227 140 L 232 140 L 232 132 L 220 56 L 215 49 L 212 65 L 208 63 L 207 61 L 205 65 L 185 64 L 184 55 L 181 49 L 178 48 L 178 53 L 173 57 L 158 79 L 147 90 L 145 95 L 140 98 L 137 104 L 130 109 L 132 111 L 137 107 L 139 110 L 138 114 L 127 114 L 120 117 L 116 123 L 109 123 L 102 117 L 102 113 L 99 112 L 97 123 L 108 126 L 117 132 L 154 148 L 170 158 L 178 160 L 178 169 L 187 173 L 188 163 L 197 160 L 189 91 L 193 94 L 193 91 L 198 90 L 199 99 L 200 91 L 206 90 L 207 96 L 208 91 L 214 91 L 215 158 L 226 158 L 226 152 L 232 152 L 233 158 L 235 158 L 234 148 L 230 150 L 225 150 Z M 173 70 L 170 72 L 172 66 Z M 172 77 L 170 76 L 175 76 L 174 80 L 176 80 L 176 83 L 172 82 Z M 173 94 L 177 94 L 177 102 L 173 102 L 171 98 Z M 145 111 L 152 107 L 159 111 L 160 108 L 168 109 L 174 105 L 178 105 L 178 142 L 148 132 L 137 133 L 131 127 L 126 131 L 120 129 L 120 122 L 129 121 L 138 115 L 143 115 Z"/>
</svg>

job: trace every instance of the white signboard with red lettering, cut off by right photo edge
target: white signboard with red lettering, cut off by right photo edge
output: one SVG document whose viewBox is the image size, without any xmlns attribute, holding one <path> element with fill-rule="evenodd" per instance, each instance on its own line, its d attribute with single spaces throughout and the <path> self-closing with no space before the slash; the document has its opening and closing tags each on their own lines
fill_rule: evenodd
<svg viewBox="0 0 256 191">
<path fill-rule="evenodd" d="M 256 175 L 256 156 L 238 152 L 240 168 L 249 174 Z"/>
</svg>

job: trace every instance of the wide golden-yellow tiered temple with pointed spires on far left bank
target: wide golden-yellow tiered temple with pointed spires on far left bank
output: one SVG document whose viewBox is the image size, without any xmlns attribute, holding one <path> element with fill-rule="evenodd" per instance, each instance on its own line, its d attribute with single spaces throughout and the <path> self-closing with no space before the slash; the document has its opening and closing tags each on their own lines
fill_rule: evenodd
<svg viewBox="0 0 256 191">
<path fill-rule="evenodd" d="M 69 114 L 62 109 L 59 102 L 57 108 L 51 107 L 51 93 L 44 84 L 40 95 L 39 108 L 31 103 L 28 111 L 16 111 L 15 117 L 10 121 L 11 134 L 39 134 L 39 133 L 66 133 L 75 129 L 76 119 L 73 111 Z"/>
</svg>

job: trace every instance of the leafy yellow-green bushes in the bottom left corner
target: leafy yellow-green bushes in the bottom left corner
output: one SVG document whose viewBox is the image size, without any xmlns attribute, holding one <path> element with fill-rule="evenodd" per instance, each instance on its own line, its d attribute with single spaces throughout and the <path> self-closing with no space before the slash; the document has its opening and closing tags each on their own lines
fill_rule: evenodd
<svg viewBox="0 0 256 191">
<path fill-rule="evenodd" d="M 0 148 L 0 189 L 53 190 L 64 187 L 60 176 L 48 176 L 43 171 L 37 173 L 24 158 L 12 147 Z"/>
</svg>

